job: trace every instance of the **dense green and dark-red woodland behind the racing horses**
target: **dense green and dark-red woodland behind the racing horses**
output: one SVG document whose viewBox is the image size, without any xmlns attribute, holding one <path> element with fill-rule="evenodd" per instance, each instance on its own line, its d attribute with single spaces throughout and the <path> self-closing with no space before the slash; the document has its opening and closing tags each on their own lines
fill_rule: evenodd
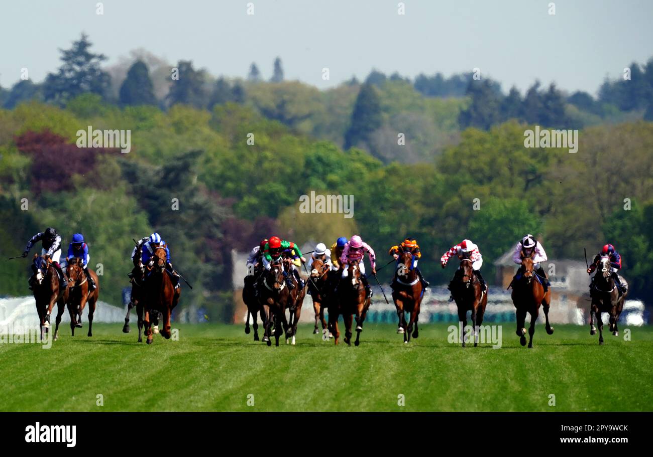
<svg viewBox="0 0 653 457">
<path fill-rule="evenodd" d="M 101 57 L 84 49 L 97 66 Z M 82 231 L 91 265 L 103 264 L 103 298 L 118 303 L 131 239 L 157 230 L 197 284 L 184 291 L 183 306 L 222 318 L 231 306 L 231 249 L 249 250 L 272 233 L 300 244 L 360 233 L 381 261 L 389 246 L 413 236 L 424 274 L 444 282 L 451 271 L 439 268 L 439 256 L 462 237 L 479 244 L 491 280 L 492 261 L 530 231 L 550 258 L 582 259 L 583 247 L 614 243 L 633 295 L 652 292 L 652 123 L 584 128 L 575 154 L 526 149 L 524 130 L 537 121 L 511 116 L 458 132 L 473 100 L 424 96 L 396 76 L 320 92 L 283 81 L 279 61 L 274 83 L 207 85 L 200 74 L 186 86 L 176 86 L 184 78 L 172 81 L 163 100 L 157 83 L 147 83 L 145 60 L 127 72 L 119 102 L 86 85 L 0 110 L 1 256 L 20 254 L 46 226 L 65 243 Z M 192 81 L 209 91 L 197 92 Z M 421 126 L 406 129 L 406 145 L 397 142 L 402 122 Z M 78 148 L 76 132 L 89 125 L 131 130 L 131 152 Z M 447 134 L 451 141 L 442 140 Z M 422 155 L 419 141 L 441 152 Z M 404 155 L 417 163 L 400 163 Z M 299 198 L 311 191 L 353 195 L 354 217 L 300 213 Z M 2 273 L 0 295 L 27 293 L 26 261 L 4 262 Z M 389 279 L 389 269 L 382 273 Z"/>
</svg>

